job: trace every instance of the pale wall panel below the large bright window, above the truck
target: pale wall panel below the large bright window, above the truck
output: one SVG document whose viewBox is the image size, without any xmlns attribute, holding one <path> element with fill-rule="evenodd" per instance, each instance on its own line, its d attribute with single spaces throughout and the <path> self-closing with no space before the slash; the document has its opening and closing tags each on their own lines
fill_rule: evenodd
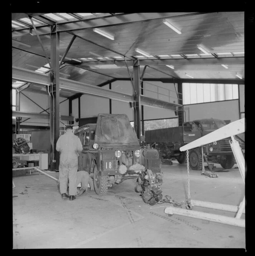
<svg viewBox="0 0 255 256">
<path fill-rule="evenodd" d="M 211 117 L 231 122 L 239 119 L 238 100 L 185 105 L 185 109 L 187 108 L 189 108 L 190 121 Z"/>
</svg>

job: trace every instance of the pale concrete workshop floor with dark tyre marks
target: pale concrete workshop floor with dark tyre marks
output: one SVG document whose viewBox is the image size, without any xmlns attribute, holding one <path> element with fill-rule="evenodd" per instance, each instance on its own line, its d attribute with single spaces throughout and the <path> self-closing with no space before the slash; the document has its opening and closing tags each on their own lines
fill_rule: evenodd
<svg viewBox="0 0 255 256">
<path fill-rule="evenodd" d="M 191 198 L 239 205 L 244 195 L 239 170 L 223 171 L 216 166 L 219 178 L 190 171 Z M 184 202 L 186 165 L 176 161 L 172 166 L 162 164 L 162 172 L 163 196 Z M 245 248 L 244 228 L 176 214 L 166 216 L 164 208 L 170 204 L 145 204 L 134 191 L 136 179 L 114 184 L 106 196 L 88 191 L 74 201 L 62 201 L 56 182 L 43 174 L 28 173 L 13 177 L 13 181 L 13 196 L 18 196 L 13 197 L 13 249 Z M 234 217 L 230 212 L 193 209 Z"/>
</svg>

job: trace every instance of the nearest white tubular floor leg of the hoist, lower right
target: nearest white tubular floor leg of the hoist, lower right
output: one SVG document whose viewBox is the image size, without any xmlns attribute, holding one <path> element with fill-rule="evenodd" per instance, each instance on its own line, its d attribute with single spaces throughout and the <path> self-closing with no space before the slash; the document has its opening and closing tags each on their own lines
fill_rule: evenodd
<svg viewBox="0 0 255 256">
<path fill-rule="evenodd" d="M 199 212 L 199 211 L 191 211 L 182 208 L 176 207 L 167 207 L 164 211 L 166 214 L 178 214 L 181 216 L 191 217 L 195 219 L 204 219 L 206 221 L 213 221 L 217 223 L 233 225 L 241 228 L 245 228 L 245 219 L 237 219 L 227 216 L 221 216 L 217 214 Z"/>
</svg>

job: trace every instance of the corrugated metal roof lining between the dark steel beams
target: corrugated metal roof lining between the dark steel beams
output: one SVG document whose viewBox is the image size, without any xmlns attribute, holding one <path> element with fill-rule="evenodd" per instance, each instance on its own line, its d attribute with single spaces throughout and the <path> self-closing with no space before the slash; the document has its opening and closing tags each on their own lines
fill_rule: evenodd
<svg viewBox="0 0 255 256">
<path fill-rule="evenodd" d="M 33 15 L 33 14 L 31 14 Z M 54 16 L 55 15 L 55 16 Z M 36 13 L 33 15 L 36 27 L 43 25 L 42 18 L 54 21 L 53 17 L 58 17 L 57 23 L 77 22 L 78 20 L 91 19 L 91 17 L 109 17 L 110 13 L 53 13 L 48 15 Z M 139 15 L 139 13 L 137 14 Z M 14 17 L 14 16 L 13 16 Z M 29 21 L 27 15 L 22 13 L 15 15 L 17 19 L 13 20 L 14 30 L 19 30 L 17 22 Z M 63 17 L 63 18 L 61 18 Z M 121 16 L 118 16 L 121 19 Z M 47 20 L 45 20 L 46 22 Z M 139 48 L 147 52 L 153 57 L 139 57 L 138 59 L 194 59 L 194 58 L 215 58 L 215 57 L 233 57 L 244 56 L 244 12 L 217 12 L 204 13 L 199 15 L 172 17 L 167 21 L 174 25 L 181 34 L 176 33 L 170 27 L 163 23 L 163 19 L 145 20 L 134 23 L 123 23 L 120 25 L 109 25 L 101 27 L 100 30 L 114 36 L 114 40 L 110 40 L 103 35 L 95 33 L 93 29 L 75 31 L 76 35 L 103 45 L 111 50 L 104 49 L 98 45 L 87 42 L 81 38 L 76 38 L 71 49 L 66 55 L 69 59 L 82 59 L 84 62 L 81 67 L 95 70 L 101 74 L 93 73 L 89 70 L 83 70 L 79 67 L 66 66 L 60 72 L 66 75 L 63 77 L 89 83 L 92 85 L 101 84 L 109 79 L 109 76 L 116 78 L 129 78 L 126 67 L 104 67 L 105 60 L 123 60 L 118 57 L 116 52 L 124 54 L 127 57 L 140 56 L 135 49 Z M 46 23 L 44 23 L 46 24 Z M 20 23 L 24 27 L 24 23 Z M 29 27 L 29 26 L 28 26 Z M 60 55 L 66 51 L 73 35 L 67 32 L 60 33 Z M 45 51 L 50 57 L 50 36 L 41 35 L 41 41 L 45 47 Z M 36 70 L 32 66 L 42 67 L 47 64 L 45 57 L 33 55 L 33 52 L 44 55 L 43 50 L 35 35 L 24 34 L 12 38 L 13 48 L 12 60 L 13 65 L 25 69 Z M 205 55 L 198 49 L 198 45 L 202 45 L 210 55 Z M 28 52 L 24 52 L 26 50 Z M 214 54 L 214 55 L 212 55 Z M 168 56 L 160 56 L 168 55 Z M 177 56 L 175 56 L 177 55 Z M 179 56 L 178 56 L 179 55 Z M 61 59 L 61 57 L 60 57 Z M 84 60 L 85 59 L 85 60 Z M 97 66 L 86 66 L 86 61 L 99 61 Z M 176 77 L 187 78 L 185 73 L 192 75 L 195 79 L 237 79 L 237 73 L 244 78 L 244 64 L 229 65 L 229 69 L 225 69 L 220 64 L 214 65 L 174 65 L 174 69 L 166 66 L 157 66 L 158 70 L 167 73 L 174 72 Z M 132 69 L 130 69 L 132 73 Z M 146 78 L 166 78 L 170 75 L 163 74 L 153 69 L 146 69 L 144 75 Z"/>
</svg>

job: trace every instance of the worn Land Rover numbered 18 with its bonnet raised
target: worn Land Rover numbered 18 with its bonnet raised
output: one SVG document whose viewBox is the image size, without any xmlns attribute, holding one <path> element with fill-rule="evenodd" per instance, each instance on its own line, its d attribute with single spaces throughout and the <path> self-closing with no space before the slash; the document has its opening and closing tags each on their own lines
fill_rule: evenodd
<svg viewBox="0 0 255 256">
<path fill-rule="evenodd" d="M 94 190 L 104 195 L 112 184 L 137 177 L 136 192 L 151 205 L 162 199 L 161 160 L 157 149 L 140 147 L 126 114 L 98 114 L 96 124 L 75 130 L 83 145 L 78 171 L 87 171 Z"/>
</svg>

